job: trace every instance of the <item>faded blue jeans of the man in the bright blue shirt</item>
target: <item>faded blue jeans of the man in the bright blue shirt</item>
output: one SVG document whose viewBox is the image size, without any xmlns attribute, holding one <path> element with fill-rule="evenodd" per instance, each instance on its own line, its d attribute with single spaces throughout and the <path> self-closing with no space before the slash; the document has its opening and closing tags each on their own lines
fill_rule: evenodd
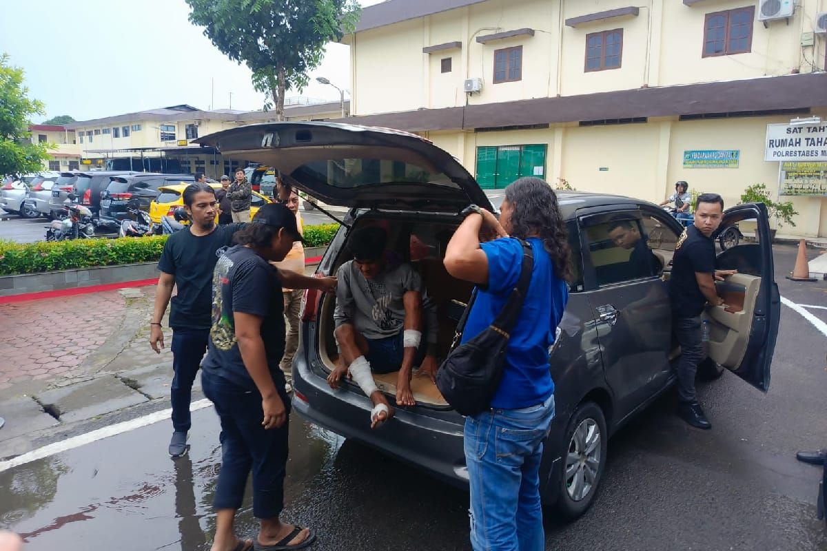
<svg viewBox="0 0 827 551">
<path fill-rule="evenodd" d="M 474 551 L 543 551 L 540 459 L 554 397 L 519 410 L 466 417 Z"/>
</svg>

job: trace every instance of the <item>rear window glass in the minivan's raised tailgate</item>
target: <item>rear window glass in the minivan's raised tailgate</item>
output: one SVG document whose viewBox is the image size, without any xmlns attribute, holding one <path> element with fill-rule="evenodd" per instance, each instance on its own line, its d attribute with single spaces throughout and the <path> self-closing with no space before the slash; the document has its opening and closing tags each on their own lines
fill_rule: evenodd
<svg viewBox="0 0 827 551">
<path fill-rule="evenodd" d="M 398 159 L 319 159 L 295 169 L 299 182 L 334 188 L 361 188 L 383 183 L 425 183 L 459 188 L 445 174 Z"/>
</svg>

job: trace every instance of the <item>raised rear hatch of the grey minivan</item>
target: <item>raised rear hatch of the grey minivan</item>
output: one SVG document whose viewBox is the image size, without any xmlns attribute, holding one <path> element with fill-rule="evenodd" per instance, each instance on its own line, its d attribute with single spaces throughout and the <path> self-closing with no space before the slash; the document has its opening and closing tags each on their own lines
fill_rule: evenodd
<svg viewBox="0 0 827 551">
<path fill-rule="evenodd" d="M 279 169 L 292 186 L 330 205 L 423 212 L 458 212 L 469 203 L 491 208 L 457 159 L 408 132 L 272 122 L 195 141 Z"/>
</svg>

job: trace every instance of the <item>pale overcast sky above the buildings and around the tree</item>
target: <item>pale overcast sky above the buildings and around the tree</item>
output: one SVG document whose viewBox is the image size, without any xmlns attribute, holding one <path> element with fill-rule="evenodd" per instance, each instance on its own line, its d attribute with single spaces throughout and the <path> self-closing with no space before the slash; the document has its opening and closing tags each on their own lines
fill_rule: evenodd
<svg viewBox="0 0 827 551">
<path fill-rule="evenodd" d="M 379 2 L 361 0 L 362 6 Z M 184 0 L 0 3 L 0 52 L 26 71 L 30 97 L 45 103 L 46 116 L 35 122 L 55 115 L 84 121 L 179 103 L 226 109 L 230 93 L 233 109 L 263 105 L 250 71 L 227 59 L 202 27 L 189 22 Z M 328 45 L 301 95 L 338 100 L 335 88 L 314 78 L 323 75 L 349 88 L 349 67 L 347 46 Z"/>
</svg>

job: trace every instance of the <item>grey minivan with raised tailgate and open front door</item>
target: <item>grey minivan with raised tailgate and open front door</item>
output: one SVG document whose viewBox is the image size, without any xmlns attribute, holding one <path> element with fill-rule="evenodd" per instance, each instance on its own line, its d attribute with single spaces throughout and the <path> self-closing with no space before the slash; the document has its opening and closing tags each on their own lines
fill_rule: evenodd
<svg viewBox="0 0 827 551">
<path fill-rule="evenodd" d="M 466 169 L 428 140 L 407 132 L 323 122 L 241 126 L 198 140 L 222 154 L 279 169 L 295 188 L 331 205 L 349 207 L 318 273 L 335 274 L 350 255 L 351 230 L 380 224 L 389 247 L 409 261 L 437 302 L 438 355 L 447 354 L 468 283 L 448 275 L 445 245 L 469 203 L 492 209 Z M 606 464 L 607 441 L 675 381 L 680 349 L 672 340 L 667 295 L 672 254 L 683 228 L 650 202 L 615 195 L 558 192 L 573 254 L 570 299 L 550 350 L 556 415 L 541 466 L 543 503 L 566 518 L 583 514 L 594 500 Z M 614 244 L 609 226 L 629 221 L 659 259 L 646 273 L 630 251 Z M 757 226 L 758 242 L 717 250 L 716 268 L 739 273 L 716 283 L 729 307 L 710 307 L 705 371 L 729 369 L 767 391 L 780 320 L 772 240 L 763 204 L 724 213 L 718 232 L 740 221 Z M 336 297 L 305 294 L 302 337 L 293 364 L 295 411 L 313 423 L 360 440 L 451 482 L 467 483 L 463 418 L 428 378 L 414 377 L 416 406 L 397 407 L 379 430 L 370 430 L 370 400 L 356 384 L 327 385 L 337 362 L 333 339 Z M 375 375 L 395 406 L 396 373 Z"/>
</svg>

